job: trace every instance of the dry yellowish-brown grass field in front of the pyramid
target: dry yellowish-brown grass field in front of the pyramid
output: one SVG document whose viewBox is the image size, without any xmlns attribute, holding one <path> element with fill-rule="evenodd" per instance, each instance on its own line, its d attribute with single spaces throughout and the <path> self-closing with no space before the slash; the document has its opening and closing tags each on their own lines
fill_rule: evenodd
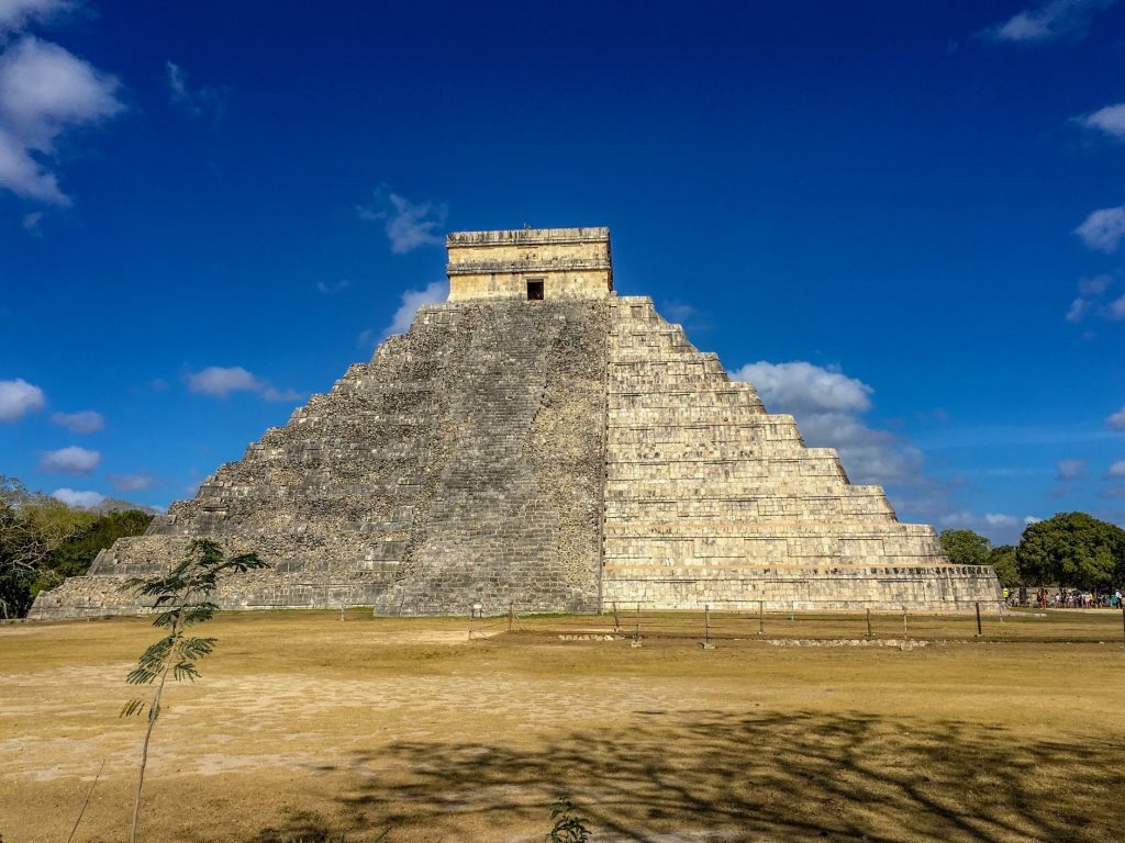
<svg viewBox="0 0 1125 843">
<path fill-rule="evenodd" d="M 223 615 L 202 679 L 166 694 L 141 839 L 541 841 L 560 794 L 597 843 L 1125 837 L 1120 615 L 991 618 L 983 641 L 912 619 L 929 643 L 906 651 L 809 645 L 863 637 L 854 616 L 770 617 L 768 641 L 716 618 L 714 650 L 698 618 L 647 618 L 639 649 L 559 638 L 605 623 L 470 643 L 465 619 Z M 117 711 L 154 637 L 0 626 L 4 843 L 66 841 L 102 762 L 74 840 L 126 839 L 143 723 Z"/>
</svg>

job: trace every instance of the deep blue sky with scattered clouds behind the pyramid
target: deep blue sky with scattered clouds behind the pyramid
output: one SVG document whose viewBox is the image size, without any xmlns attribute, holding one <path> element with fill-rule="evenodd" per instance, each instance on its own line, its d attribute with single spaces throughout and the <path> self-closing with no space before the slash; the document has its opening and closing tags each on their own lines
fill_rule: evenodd
<svg viewBox="0 0 1125 843">
<path fill-rule="evenodd" d="M 900 517 L 1125 524 L 1125 3 L 0 0 L 0 473 L 166 506 L 609 225 Z"/>
</svg>

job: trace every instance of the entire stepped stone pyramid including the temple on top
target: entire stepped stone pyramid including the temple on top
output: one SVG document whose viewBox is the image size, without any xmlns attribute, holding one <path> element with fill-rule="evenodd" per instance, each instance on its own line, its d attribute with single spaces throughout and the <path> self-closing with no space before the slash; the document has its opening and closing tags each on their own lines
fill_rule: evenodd
<svg viewBox="0 0 1125 843">
<path fill-rule="evenodd" d="M 616 296 L 609 229 L 448 248 L 448 301 L 32 617 L 141 611 L 120 583 L 196 537 L 273 563 L 226 608 L 998 607 L 990 568 L 951 565 L 651 299 Z"/>
</svg>

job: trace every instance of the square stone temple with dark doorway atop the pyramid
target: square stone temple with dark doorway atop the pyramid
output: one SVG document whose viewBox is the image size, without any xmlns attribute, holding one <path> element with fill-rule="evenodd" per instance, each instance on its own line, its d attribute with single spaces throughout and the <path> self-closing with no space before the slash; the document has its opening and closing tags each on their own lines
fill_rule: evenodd
<svg viewBox="0 0 1125 843">
<path fill-rule="evenodd" d="M 613 292 L 609 228 L 456 232 L 449 300 L 604 298 Z"/>
</svg>

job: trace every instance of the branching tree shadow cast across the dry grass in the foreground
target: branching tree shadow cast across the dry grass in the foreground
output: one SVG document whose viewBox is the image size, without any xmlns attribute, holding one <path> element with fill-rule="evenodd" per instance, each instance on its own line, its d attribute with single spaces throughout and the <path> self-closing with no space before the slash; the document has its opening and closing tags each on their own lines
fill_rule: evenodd
<svg viewBox="0 0 1125 843">
<path fill-rule="evenodd" d="M 338 797 L 350 827 L 333 831 L 370 832 L 377 817 L 389 840 L 542 840 L 548 806 L 569 794 L 598 843 L 1119 840 L 1123 742 L 1099 741 L 862 714 L 641 711 L 533 750 L 496 736 L 358 753 L 333 768 L 353 780 Z M 259 843 L 325 835 L 289 819 Z"/>
</svg>

